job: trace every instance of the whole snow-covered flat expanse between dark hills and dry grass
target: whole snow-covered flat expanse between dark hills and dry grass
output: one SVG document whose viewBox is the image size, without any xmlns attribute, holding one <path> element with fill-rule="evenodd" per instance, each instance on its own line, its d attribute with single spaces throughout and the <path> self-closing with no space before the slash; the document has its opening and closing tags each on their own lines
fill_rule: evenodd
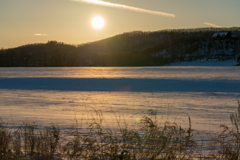
<svg viewBox="0 0 240 160">
<path fill-rule="evenodd" d="M 0 117 L 82 128 L 101 110 L 114 127 L 114 113 L 133 127 L 149 109 L 164 121 L 217 131 L 230 124 L 240 98 L 240 67 L 0 68 Z"/>
</svg>

